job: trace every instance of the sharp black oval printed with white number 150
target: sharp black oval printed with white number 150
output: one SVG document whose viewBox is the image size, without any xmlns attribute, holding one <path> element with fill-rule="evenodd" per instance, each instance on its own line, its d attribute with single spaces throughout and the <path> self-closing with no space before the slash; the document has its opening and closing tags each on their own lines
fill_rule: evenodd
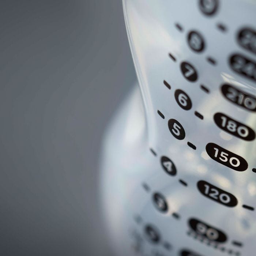
<svg viewBox="0 0 256 256">
<path fill-rule="evenodd" d="M 206 152 L 211 159 L 235 171 L 244 172 L 248 168 L 248 163 L 244 158 L 215 143 L 208 143 L 206 145 Z"/>
</svg>

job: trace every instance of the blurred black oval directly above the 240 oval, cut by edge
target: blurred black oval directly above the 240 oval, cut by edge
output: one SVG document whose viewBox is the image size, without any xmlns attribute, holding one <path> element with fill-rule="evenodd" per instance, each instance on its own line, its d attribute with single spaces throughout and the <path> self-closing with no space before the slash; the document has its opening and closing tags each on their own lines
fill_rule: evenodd
<svg viewBox="0 0 256 256">
<path fill-rule="evenodd" d="M 242 48 L 256 53 L 256 30 L 250 27 L 240 29 L 237 34 L 237 41 Z"/>
</svg>

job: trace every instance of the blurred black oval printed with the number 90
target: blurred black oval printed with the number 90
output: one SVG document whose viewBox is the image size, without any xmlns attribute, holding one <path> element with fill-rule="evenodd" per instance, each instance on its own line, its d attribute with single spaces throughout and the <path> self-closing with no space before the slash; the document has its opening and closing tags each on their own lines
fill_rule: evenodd
<svg viewBox="0 0 256 256">
<path fill-rule="evenodd" d="M 191 218 L 188 221 L 189 226 L 192 230 L 194 230 L 200 236 L 206 237 L 211 241 L 215 242 L 225 242 L 227 240 L 227 236 L 225 233 L 211 225 L 200 221 L 199 219 Z"/>
</svg>

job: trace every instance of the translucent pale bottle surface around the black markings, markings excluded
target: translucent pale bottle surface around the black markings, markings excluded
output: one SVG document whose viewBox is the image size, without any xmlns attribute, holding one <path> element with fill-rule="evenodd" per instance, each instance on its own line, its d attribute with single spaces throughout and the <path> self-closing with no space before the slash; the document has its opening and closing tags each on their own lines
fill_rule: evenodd
<svg viewBox="0 0 256 256">
<path fill-rule="evenodd" d="M 217 14 L 207 17 L 200 12 L 198 1 L 124 1 L 128 37 L 142 97 L 137 88 L 127 98 L 112 120 L 102 151 L 103 212 L 109 237 L 119 256 L 136 255 L 135 245 L 140 248 L 137 253 L 143 256 L 180 255 L 182 248 L 202 256 L 236 255 L 237 252 L 251 256 L 256 252 L 256 213 L 242 207 L 243 204 L 256 207 L 256 174 L 252 172 L 256 167 L 256 143 L 222 131 L 213 121 L 215 113 L 223 112 L 256 129 L 256 113 L 227 101 L 220 91 L 221 84 L 230 83 L 245 93 L 256 95 L 255 83 L 232 71 L 227 61 L 230 54 L 236 52 L 256 60 L 255 54 L 241 48 L 236 41 L 241 26 L 255 27 L 256 5 L 238 0 L 220 2 Z M 216 24 L 220 22 L 227 27 L 225 33 L 217 29 Z M 177 30 L 175 23 L 181 24 L 184 30 Z M 206 39 L 204 52 L 196 53 L 189 48 L 187 34 L 190 30 L 203 34 Z M 168 53 L 177 61 L 170 59 Z M 217 60 L 217 65 L 208 63 L 208 56 Z M 199 76 L 196 82 L 184 79 L 180 72 L 181 61 L 196 67 Z M 163 80 L 171 85 L 171 90 Z M 210 93 L 200 89 L 200 84 L 210 89 Z M 180 108 L 174 98 L 176 89 L 189 95 L 192 109 Z M 195 111 L 204 119 L 196 117 Z M 167 125 L 170 118 L 184 127 L 184 140 L 177 140 L 170 133 Z M 187 142 L 193 143 L 196 150 L 188 147 Z M 237 172 L 212 160 L 205 150 L 209 142 L 245 158 L 248 169 Z M 149 148 L 153 148 L 157 156 Z M 162 155 L 175 163 L 176 176 L 163 171 Z M 181 185 L 179 179 L 186 181 L 188 186 Z M 196 186 L 199 180 L 235 195 L 237 206 L 226 207 L 203 196 Z M 142 187 L 144 182 L 150 192 Z M 155 208 L 151 199 L 153 192 L 165 196 L 169 206 L 165 214 Z M 172 216 L 174 212 L 180 219 Z M 134 221 L 136 215 L 142 218 L 140 224 Z M 188 236 L 188 219 L 192 217 L 222 230 L 227 241 L 206 245 L 207 239 L 200 242 Z M 156 245 L 145 239 L 147 223 L 156 226 L 161 233 L 161 241 Z M 132 236 L 134 232 L 137 238 L 141 237 L 139 243 Z M 232 245 L 232 241 L 242 242 L 243 247 Z M 169 242 L 172 248 L 164 248 L 164 242 Z"/>
</svg>

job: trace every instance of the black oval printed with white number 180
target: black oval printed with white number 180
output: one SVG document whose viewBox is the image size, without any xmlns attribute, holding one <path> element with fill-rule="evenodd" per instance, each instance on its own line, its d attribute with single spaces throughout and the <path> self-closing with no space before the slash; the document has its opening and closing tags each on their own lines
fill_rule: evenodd
<svg viewBox="0 0 256 256">
<path fill-rule="evenodd" d="M 245 124 L 223 114 L 216 113 L 213 117 L 215 124 L 223 131 L 230 133 L 243 140 L 254 140 L 255 132 Z"/>
</svg>

